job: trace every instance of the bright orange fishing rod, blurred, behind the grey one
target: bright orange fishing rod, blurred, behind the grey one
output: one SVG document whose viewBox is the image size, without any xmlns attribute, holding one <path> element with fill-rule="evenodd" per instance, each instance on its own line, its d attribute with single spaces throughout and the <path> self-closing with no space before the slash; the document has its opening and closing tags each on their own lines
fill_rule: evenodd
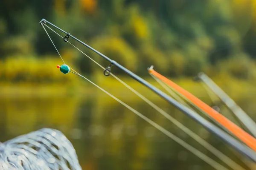
<svg viewBox="0 0 256 170">
<path fill-rule="evenodd" d="M 200 99 L 186 91 L 185 89 L 181 88 L 179 85 L 175 84 L 171 80 L 167 79 L 163 75 L 157 73 L 154 71 L 153 68 L 148 69 L 149 73 L 157 77 L 158 79 L 162 80 L 172 88 L 174 88 L 177 92 L 185 96 L 187 99 L 189 99 L 192 103 L 197 105 L 201 110 L 206 112 L 209 116 L 211 116 L 213 119 L 215 119 L 218 123 L 223 125 L 227 130 L 229 130 L 231 133 L 233 133 L 235 136 L 237 136 L 241 141 L 243 141 L 245 144 L 247 144 L 251 149 L 256 151 L 256 139 L 253 138 L 253 136 L 250 136 L 247 132 L 242 130 L 240 127 L 238 127 L 236 124 L 231 122 L 229 119 L 227 119 L 222 114 L 215 111 L 213 108 L 211 108 L 209 105 L 202 102 Z"/>
</svg>

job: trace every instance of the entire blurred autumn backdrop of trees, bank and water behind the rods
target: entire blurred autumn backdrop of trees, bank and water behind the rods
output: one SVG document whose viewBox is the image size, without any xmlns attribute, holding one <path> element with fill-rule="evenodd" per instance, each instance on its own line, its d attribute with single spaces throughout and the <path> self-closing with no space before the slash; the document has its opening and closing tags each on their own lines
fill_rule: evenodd
<svg viewBox="0 0 256 170">
<path fill-rule="evenodd" d="M 1 0 L 0 141 L 50 127 L 70 139 L 84 170 L 212 169 L 81 77 L 62 74 L 56 65 L 63 63 L 39 22 L 45 18 L 160 88 L 147 71 L 154 65 L 160 74 L 213 105 L 202 85 L 192 80 L 204 72 L 256 120 L 255 4 L 255 0 Z M 47 31 L 67 65 L 221 163 L 125 86 L 105 77 L 76 48 Z M 97 54 L 70 42 L 108 66 Z M 201 125 L 122 71 L 113 68 L 113 73 L 246 168 L 243 156 Z M 238 123 L 224 106 L 221 113 Z"/>
</svg>

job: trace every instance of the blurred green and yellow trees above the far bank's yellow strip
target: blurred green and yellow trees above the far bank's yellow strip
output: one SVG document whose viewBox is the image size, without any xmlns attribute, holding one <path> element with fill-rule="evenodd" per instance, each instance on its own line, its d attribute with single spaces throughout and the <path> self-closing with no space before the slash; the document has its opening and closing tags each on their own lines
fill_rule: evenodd
<svg viewBox="0 0 256 170">
<path fill-rule="evenodd" d="M 256 51 L 247 52 L 246 46 L 238 44 L 250 29 L 251 0 L 52 0 L 47 3 L 48 8 L 47 4 L 28 0 L 24 4 L 27 6 L 12 11 L 10 3 L 3 1 L 3 7 L 12 12 L 5 11 L 0 17 L 0 35 L 5 35 L 0 41 L 3 59 L 11 57 L 26 63 L 28 57 L 19 56 L 34 56 L 33 60 L 39 63 L 46 55 L 58 56 L 38 24 L 44 17 L 142 76 L 147 75 L 145 68 L 154 65 L 166 76 L 193 77 L 205 71 L 225 72 L 239 79 L 255 77 L 252 63 Z M 50 30 L 49 33 L 64 60 L 79 67 L 82 73 L 93 74 L 99 69 Z M 79 48 L 84 51 L 83 46 Z M 108 64 L 92 51 L 84 52 L 102 65 Z M 5 67 L 3 64 L 3 70 L 8 70 Z M 16 71 L 23 69 L 17 67 L 20 68 Z M 30 69 L 29 73 L 36 75 L 33 72 L 36 69 Z"/>
</svg>

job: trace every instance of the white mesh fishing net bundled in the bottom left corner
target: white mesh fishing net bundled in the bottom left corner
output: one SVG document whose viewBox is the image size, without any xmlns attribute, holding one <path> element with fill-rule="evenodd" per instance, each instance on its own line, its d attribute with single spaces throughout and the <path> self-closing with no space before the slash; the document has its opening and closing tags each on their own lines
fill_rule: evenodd
<svg viewBox="0 0 256 170">
<path fill-rule="evenodd" d="M 81 170 L 71 142 L 44 128 L 0 143 L 0 170 Z"/>
</svg>

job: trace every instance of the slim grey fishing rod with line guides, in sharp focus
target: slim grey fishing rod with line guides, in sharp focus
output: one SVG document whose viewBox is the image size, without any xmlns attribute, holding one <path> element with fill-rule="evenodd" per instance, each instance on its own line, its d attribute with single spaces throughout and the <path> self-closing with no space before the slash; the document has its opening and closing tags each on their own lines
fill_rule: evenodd
<svg viewBox="0 0 256 170">
<path fill-rule="evenodd" d="M 196 122 L 198 122 L 199 124 L 201 124 L 202 126 L 204 126 L 206 129 L 208 129 L 210 132 L 212 132 L 213 134 L 215 134 L 216 136 L 218 136 L 219 138 L 221 138 L 222 140 L 224 140 L 225 142 L 227 142 L 228 144 L 230 144 L 232 147 L 234 147 L 236 150 L 238 150 L 240 153 L 244 154 L 245 156 L 247 156 L 249 159 L 251 159 L 252 161 L 256 162 L 256 153 L 251 150 L 250 148 L 248 148 L 247 146 L 245 146 L 244 144 L 242 144 L 241 142 L 237 141 L 236 139 L 234 139 L 232 136 L 230 136 L 228 133 L 224 132 L 223 130 L 221 130 L 220 128 L 218 128 L 217 126 L 213 125 L 212 123 L 210 123 L 209 121 L 207 121 L 206 119 L 204 119 L 202 116 L 200 116 L 198 113 L 196 113 L 195 111 L 192 111 L 191 109 L 187 108 L 186 106 L 180 104 L 179 102 L 177 102 L 175 99 L 173 99 L 171 96 L 165 94 L 163 91 L 161 91 L 160 89 L 154 87 L 153 85 L 151 85 L 149 82 L 145 81 L 144 79 L 142 79 L 141 77 L 137 76 L 136 74 L 134 74 L 133 72 L 129 71 L 127 68 L 123 67 L 122 65 L 120 65 L 119 63 L 117 63 L 116 61 L 108 58 L 107 56 L 105 56 L 104 54 L 100 53 L 99 51 L 97 51 L 96 49 L 90 47 L 89 45 L 85 44 L 84 42 L 82 42 L 81 40 L 77 39 L 76 37 L 74 37 L 73 35 L 71 35 L 70 33 L 62 30 L 61 28 L 55 26 L 54 24 L 50 23 L 49 21 L 42 19 L 40 21 L 40 24 L 46 25 L 49 24 L 50 26 L 58 29 L 59 31 L 63 32 L 64 34 L 66 34 L 63 38 L 64 42 L 68 42 L 69 38 L 73 38 L 74 40 L 80 42 L 82 45 L 86 46 L 87 48 L 89 48 L 90 50 L 94 51 L 96 54 L 99 54 L 101 57 L 103 57 L 104 59 L 106 59 L 108 62 L 110 62 L 110 65 L 105 68 L 104 70 L 104 75 L 105 76 L 109 76 L 111 74 L 111 68 L 112 66 L 116 66 L 117 68 L 119 68 L 120 70 L 124 71 L 126 74 L 128 74 L 130 77 L 132 77 L 133 79 L 135 79 L 137 82 L 140 82 L 142 85 L 144 85 L 145 87 L 149 88 L 151 91 L 153 91 L 155 94 L 161 96 L 163 99 L 165 99 L 167 102 L 169 102 L 170 104 L 172 104 L 173 106 L 175 106 L 177 109 L 179 109 L 180 111 L 182 111 L 183 113 L 185 113 L 187 116 L 191 117 L 192 119 L 194 119 Z"/>
</svg>

